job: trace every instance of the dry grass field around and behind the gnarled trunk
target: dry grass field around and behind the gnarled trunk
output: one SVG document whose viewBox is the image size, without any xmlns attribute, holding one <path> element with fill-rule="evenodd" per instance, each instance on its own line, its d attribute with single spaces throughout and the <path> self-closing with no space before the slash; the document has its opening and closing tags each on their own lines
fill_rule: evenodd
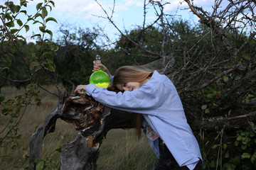
<svg viewBox="0 0 256 170">
<path fill-rule="evenodd" d="M 48 86 L 54 91 L 54 88 Z M 23 94 L 24 89 L 4 87 L 1 95 L 14 98 Z M 19 133 L 22 135 L 18 147 L 11 149 L 6 146 L 0 148 L 0 169 L 13 170 L 28 166 L 26 155 L 29 154 L 28 143 L 31 135 L 38 127 L 43 126 L 46 115 L 53 111 L 58 103 L 58 98 L 41 91 L 41 106 L 29 106 L 19 124 Z M 6 125 L 6 118 L 0 117 L 0 130 Z M 1 134 L 3 135 L 3 134 Z M 43 153 L 41 159 L 46 161 L 45 169 L 58 169 L 60 153 L 55 149 L 67 142 L 72 142 L 78 135 L 73 125 L 57 120 L 55 132 L 46 135 L 43 140 Z M 146 137 L 142 135 L 140 140 L 134 136 L 134 130 L 110 130 L 100 147 L 100 157 L 97 161 L 97 169 L 154 169 L 157 158 L 151 150 Z"/>
</svg>

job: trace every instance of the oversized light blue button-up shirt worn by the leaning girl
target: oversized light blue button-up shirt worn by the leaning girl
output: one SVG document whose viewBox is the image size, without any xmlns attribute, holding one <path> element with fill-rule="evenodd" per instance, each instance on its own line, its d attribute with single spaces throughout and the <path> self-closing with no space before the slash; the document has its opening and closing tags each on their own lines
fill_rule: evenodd
<svg viewBox="0 0 256 170">
<path fill-rule="evenodd" d="M 154 71 L 139 89 L 115 93 L 89 84 L 85 91 L 96 101 L 122 111 L 142 113 L 147 123 L 161 137 L 179 166 L 194 169 L 201 152 L 187 123 L 181 99 L 171 80 Z"/>
</svg>

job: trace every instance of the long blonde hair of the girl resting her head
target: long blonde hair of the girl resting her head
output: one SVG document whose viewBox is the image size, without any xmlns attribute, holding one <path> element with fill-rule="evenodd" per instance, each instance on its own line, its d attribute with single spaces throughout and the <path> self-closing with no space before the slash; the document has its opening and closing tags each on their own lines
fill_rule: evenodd
<svg viewBox="0 0 256 170">
<path fill-rule="evenodd" d="M 128 82 L 140 82 L 144 81 L 144 79 L 148 79 L 151 77 L 153 72 L 142 66 L 123 66 L 119 67 L 114 74 L 114 79 L 112 84 L 110 85 L 110 90 L 119 92 L 117 89 L 117 84 L 124 84 Z M 136 135 L 137 137 L 141 137 L 142 134 L 142 114 L 133 113 L 134 114 L 134 122 L 136 126 Z"/>
</svg>

